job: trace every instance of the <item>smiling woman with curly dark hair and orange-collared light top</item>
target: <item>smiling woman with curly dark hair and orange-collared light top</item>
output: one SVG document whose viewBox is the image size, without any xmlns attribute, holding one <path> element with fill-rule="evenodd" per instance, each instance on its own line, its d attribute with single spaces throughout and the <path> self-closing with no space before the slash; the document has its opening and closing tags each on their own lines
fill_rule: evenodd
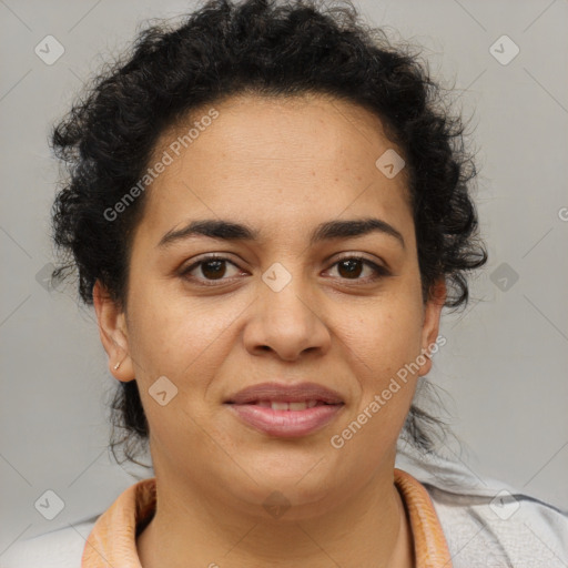
<svg viewBox="0 0 568 568">
<path fill-rule="evenodd" d="M 213 1 L 143 32 L 53 132 L 70 169 L 53 222 L 73 256 L 55 276 L 77 266 L 120 382 L 126 455 L 148 443 L 155 477 L 87 541 L 61 546 L 70 528 L 28 554 L 59 546 L 57 566 L 83 568 L 568 561 L 567 516 L 428 458 L 436 418 L 413 404 L 442 310 L 467 303 L 487 258 L 462 131 L 416 58 L 347 3 Z M 416 470 L 430 462 L 422 481 L 395 467 L 399 439 Z M 550 546 L 521 526 L 554 529 Z"/>
</svg>

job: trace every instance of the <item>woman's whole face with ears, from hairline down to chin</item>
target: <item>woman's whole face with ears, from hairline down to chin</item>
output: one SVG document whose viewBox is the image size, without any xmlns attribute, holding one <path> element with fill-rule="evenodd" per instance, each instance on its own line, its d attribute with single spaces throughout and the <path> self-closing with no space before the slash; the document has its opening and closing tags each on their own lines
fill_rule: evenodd
<svg viewBox="0 0 568 568">
<path fill-rule="evenodd" d="M 214 120 L 200 120 L 214 114 L 204 108 L 156 146 L 151 164 L 171 163 L 146 190 L 126 314 L 95 301 L 101 337 L 114 376 L 138 381 L 162 484 L 243 510 L 277 491 L 296 516 L 322 511 L 373 478 L 392 483 L 399 430 L 429 371 L 419 355 L 436 341 L 440 304 L 423 304 L 406 172 L 393 176 L 396 148 L 381 121 L 347 102 L 213 106 Z M 194 122 L 202 128 L 181 143 Z M 358 234 L 355 222 L 371 219 L 378 229 Z M 176 236 L 205 220 L 254 237 Z M 212 254 L 223 261 L 207 264 Z M 239 398 L 266 383 L 284 388 Z M 286 397 L 296 405 L 273 409 Z"/>
</svg>

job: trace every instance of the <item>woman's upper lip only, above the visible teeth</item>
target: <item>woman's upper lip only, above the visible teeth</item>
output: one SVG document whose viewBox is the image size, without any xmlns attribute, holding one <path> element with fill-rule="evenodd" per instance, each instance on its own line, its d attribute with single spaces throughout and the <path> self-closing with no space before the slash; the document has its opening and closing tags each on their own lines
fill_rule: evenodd
<svg viewBox="0 0 568 568">
<path fill-rule="evenodd" d="M 321 400 L 326 404 L 343 404 L 338 393 L 316 383 L 261 383 L 239 390 L 226 403 L 248 404 L 258 400 L 276 403 L 301 403 L 303 400 Z"/>
</svg>

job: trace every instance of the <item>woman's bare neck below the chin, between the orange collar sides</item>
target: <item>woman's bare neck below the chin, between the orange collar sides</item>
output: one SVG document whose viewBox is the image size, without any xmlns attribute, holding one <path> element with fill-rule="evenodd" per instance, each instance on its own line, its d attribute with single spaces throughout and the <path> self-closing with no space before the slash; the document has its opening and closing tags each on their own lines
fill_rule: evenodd
<svg viewBox="0 0 568 568">
<path fill-rule="evenodd" d="M 186 478 L 183 484 L 158 481 L 156 513 L 136 541 L 141 565 L 412 568 L 412 531 L 393 468 L 389 471 L 323 513 L 285 511 L 278 518 L 267 518 L 262 507 L 257 515 L 248 508 L 243 514 L 245 507 L 231 499 L 209 498 L 187 487 Z"/>
</svg>

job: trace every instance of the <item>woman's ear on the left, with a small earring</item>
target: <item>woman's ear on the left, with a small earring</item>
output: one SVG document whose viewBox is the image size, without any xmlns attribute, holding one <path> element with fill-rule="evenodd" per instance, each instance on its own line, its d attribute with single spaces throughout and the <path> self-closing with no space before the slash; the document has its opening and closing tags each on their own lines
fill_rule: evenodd
<svg viewBox="0 0 568 568">
<path fill-rule="evenodd" d="M 93 304 L 99 322 L 101 343 L 109 355 L 109 371 L 118 381 L 133 381 L 134 368 L 130 357 L 124 312 L 111 298 L 99 280 L 93 286 Z M 114 366 L 120 363 L 118 369 Z"/>
</svg>

